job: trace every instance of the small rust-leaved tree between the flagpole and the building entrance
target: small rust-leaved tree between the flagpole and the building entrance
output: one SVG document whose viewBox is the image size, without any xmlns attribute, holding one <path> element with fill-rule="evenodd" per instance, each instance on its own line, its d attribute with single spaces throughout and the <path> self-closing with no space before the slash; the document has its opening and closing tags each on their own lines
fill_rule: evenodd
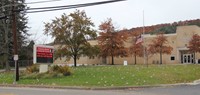
<svg viewBox="0 0 200 95">
<path fill-rule="evenodd" d="M 152 54 L 159 53 L 160 54 L 160 64 L 162 64 L 162 54 L 171 54 L 173 48 L 171 46 L 166 46 L 167 37 L 164 36 L 163 33 L 158 34 L 155 39 L 153 39 L 152 43 L 149 44 L 149 52 Z"/>
</svg>

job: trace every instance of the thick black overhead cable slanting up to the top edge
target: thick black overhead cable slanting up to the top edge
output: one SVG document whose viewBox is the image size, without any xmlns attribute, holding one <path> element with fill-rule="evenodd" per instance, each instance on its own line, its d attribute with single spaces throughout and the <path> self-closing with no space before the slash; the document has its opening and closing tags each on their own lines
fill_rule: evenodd
<svg viewBox="0 0 200 95">
<path fill-rule="evenodd" d="M 126 0 L 110 0 L 110 1 L 93 2 L 93 3 L 76 4 L 76 5 L 29 8 L 29 9 L 25 9 L 25 10 L 26 10 L 26 13 L 38 13 L 38 12 L 47 12 L 47 11 L 56 11 L 56 10 L 65 10 L 65 9 L 72 9 L 72 8 L 79 8 L 79 7 L 102 5 L 102 4 L 107 4 L 107 3 L 119 2 L 119 1 L 126 1 Z M 34 10 L 34 11 L 29 11 L 29 10 Z M 24 11 L 24 10 L 16 10 L 16 11 Z"/>
</svg>

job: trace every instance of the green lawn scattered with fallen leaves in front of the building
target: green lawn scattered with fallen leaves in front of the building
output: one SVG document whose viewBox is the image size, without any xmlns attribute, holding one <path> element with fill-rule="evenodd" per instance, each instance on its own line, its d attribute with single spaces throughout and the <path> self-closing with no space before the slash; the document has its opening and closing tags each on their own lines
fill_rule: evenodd
<svg viewBox="0 0 200 95">
<path fill-rule="evenodd" d="M 18 84 L 113 87 L 187 83 L 200 79 L 200 65 L 91 66 L 72 70 L 71 76 L 21 79 Z M 13 73 L 0 73 L 0 84 L 12 82 Z"/>
</svg>

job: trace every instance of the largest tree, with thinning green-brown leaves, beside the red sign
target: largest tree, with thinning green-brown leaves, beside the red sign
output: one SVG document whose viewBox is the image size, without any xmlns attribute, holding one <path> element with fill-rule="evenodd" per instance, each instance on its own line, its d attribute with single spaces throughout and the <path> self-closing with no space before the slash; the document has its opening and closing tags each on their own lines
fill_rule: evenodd
<svg viewBox="0 0 200 95">
<path fill-rule="evenodd" d="M 45 23 L 45 34 L 51 35 L 54 43 L 60 45 L 56 55 L 66 56 L 76 60 L 82 56 L 91 56 L 87 50 L 92 47 L 86 38 L 94 39 L 97 35 L 92 27 L 94 24 L 84 11 L 76 10 L 69 15 L 63 14 L 51 23 Z M 93 50 L 93 49 L 92 49 Z"/>
</svg>

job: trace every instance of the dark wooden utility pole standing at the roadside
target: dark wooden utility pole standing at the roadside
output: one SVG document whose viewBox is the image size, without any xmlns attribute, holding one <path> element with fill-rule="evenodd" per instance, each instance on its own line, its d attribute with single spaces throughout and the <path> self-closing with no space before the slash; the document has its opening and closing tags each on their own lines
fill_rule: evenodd
<svg viewBox="0 0 200 95">
<path fill-rule="evenodd" d="M 14 43 L 14 61 L 15 61 L 15 82 L 19 81 L 19 66 L 18 66 L 18 49 L 17 49 L 17 28 L 16 28 L 16 14 L 15 14 L 15 1 L 12 1 L 12 32 Z"/>
</svg>

